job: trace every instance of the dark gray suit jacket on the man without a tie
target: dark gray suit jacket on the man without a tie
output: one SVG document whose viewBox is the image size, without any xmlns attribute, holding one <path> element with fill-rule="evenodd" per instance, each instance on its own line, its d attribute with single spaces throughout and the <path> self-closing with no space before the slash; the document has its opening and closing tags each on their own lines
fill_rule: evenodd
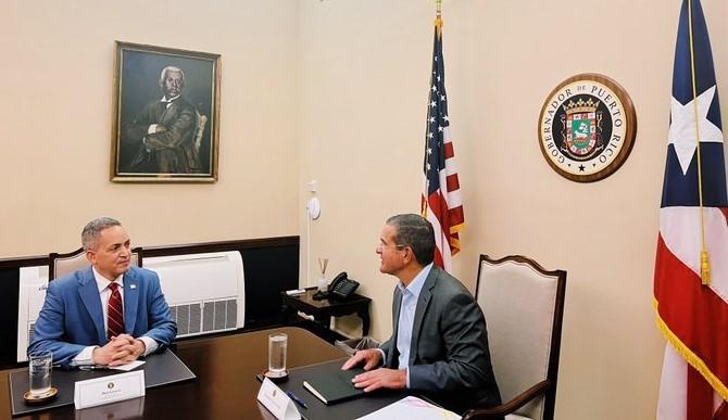
<svg viewBox="0 0 728 420">
<path fill-rule="evenodd" d="M 394 289 L 393 334 L 380 348 L 385 366 L 399 368 L 397 333 L 402 294 Z M 454 277 L 432 267 L 419 293 L 412 328 L 410 387 L 463 411 L 501 404 L 488 351 L 486 319 Z"/>
</svg>

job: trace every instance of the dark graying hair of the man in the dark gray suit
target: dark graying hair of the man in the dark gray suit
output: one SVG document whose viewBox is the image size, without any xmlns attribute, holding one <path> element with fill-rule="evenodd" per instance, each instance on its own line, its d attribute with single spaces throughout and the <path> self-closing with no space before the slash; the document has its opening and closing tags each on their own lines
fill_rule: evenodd
<svg viewBox="0 0 728 420">
<path fill-rule="evenodd" d="M 415 214 L 397 215 L 388 218 L 387 225 L 397 229 L 394 243 L 410 246 L 419 265 L 426 266 L 435 259 L 435 229 L 426 218 Z"/>
</svg>

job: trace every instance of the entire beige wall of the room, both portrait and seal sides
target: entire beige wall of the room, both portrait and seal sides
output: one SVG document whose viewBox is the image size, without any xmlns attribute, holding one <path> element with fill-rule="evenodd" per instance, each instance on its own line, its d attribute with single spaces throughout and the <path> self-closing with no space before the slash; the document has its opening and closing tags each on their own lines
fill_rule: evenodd
<svg viewBox="0 0 728 420">
<path fill-rule="evenodd" d="M 75 247 L 99 214 L 142 245 L 299 233 L 302 283 L 310 259 L 330 258 L 329 278 L 362 281 L 373 334 L 386 339 L 394 280 L 374 247 L 387 216 L 418 208 L 434 1 L 187 4 L 198 3 L 5 4 L 0 256 Z M 480 253 L 568 270 L 558 419 L 654 418 L 663 341 L 651 288 L 679 5 L 444 1 L 467 224 L 455 275 L 472 288 Z M 703 5 L 716 66 L 728 68 L 728 5 Z M 222 54 L 219 182 L 108 181 L 114 40 Z M 553 173 L 536 136 L 547 94 L 582 72 L 620 82 L 639 120 L 629 160 L 591 184 Z M 307 256 L 312 179 L 323 212 Z"/>
</svg>

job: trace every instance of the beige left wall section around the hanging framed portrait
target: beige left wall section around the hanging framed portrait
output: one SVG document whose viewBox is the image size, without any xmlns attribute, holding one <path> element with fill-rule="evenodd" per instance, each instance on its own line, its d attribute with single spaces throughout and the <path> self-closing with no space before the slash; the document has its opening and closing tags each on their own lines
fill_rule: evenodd
<svg viewBox="0 0 728 420">
<path fill-rule="evenodd" d="M 138 245 L 298 233 L 297 5 L 201 4 L 3 2 L 0 256 L 76 249 L 98 215 Z M 109 181 L 114 40 L 222 55 L 217 183 Z"/>
</svg>

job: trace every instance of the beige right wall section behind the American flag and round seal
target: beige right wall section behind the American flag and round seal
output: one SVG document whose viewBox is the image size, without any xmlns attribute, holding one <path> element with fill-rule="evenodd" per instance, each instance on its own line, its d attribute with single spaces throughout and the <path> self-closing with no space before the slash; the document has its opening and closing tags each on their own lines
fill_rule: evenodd
<svg viewBox="0 0 728 420">
<path fill-rule="evenodd" d="M 391 333 L 394 281 L 378 273 L 374 245 L 388 215 L 418 208 L 434 3 L 306 1 L 300 10 L 301 180 L 318 180 L 323 205 L 312 256 L 331 258 L 331 276 L 347 269 L 362 281 L 379 339 Z M 728 7 L 703 4 L 725 74 Z M 678 0 L 444 1 L 466 218 L 455 273 L 473 287 L 480 253 L 524 254 L 568 271 L 558 419 L 655 416 L 663 341 L 651 292 L 679 8 Z M 537 139 L 551 89 L 583 72 L 622 84 L 639 120 L 629 160 L 590 184 L 556 175 Z M 339 327 L 353 332 L 356 323 Z"/>
</svg>

